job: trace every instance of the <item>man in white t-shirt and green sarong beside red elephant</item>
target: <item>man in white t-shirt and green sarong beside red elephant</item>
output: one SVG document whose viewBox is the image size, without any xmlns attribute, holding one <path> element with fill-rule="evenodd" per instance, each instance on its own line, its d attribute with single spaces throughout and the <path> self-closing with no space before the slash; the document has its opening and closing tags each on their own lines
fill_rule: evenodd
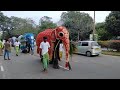
<svg viewBox="0 0 120 90">
<path fill-rule="evenodd" d="M 40 43 L 40 57 L 43 63 L 43 72 L 47 71 L 49 63 L 48 50 L 50 48 L 49 42 L 47 42 L 47 37 L 43 37 L 43 42 Z"/>
</svg>

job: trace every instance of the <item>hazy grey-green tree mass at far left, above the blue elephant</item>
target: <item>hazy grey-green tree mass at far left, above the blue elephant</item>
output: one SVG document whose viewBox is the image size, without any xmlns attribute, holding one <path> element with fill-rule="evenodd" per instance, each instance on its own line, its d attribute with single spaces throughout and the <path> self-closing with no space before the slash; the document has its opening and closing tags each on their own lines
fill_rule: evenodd
<svg viewBox="0 0 120 90">
<path fill-rule="evenodd" d="M 38 26 L 31 18 L 23 19 L 14 16 L 9 18 L 0 12 L 0 30 L 3 31 L 3 37 L 6 38 L 24 33 L 37 34 Z"/>
</svg>

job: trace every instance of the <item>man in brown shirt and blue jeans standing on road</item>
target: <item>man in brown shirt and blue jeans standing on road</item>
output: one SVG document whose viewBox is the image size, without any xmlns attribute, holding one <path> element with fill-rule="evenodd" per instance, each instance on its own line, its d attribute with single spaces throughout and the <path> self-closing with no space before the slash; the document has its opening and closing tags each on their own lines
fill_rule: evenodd
<svg viewBox="0 0 120 90">
<path fill-rule="evenodd" d="M 4 43 L 4 60 L 7 60 L 6 55 L 8 60 L 10 60 L 10 52 L 11 52 L 10 42 L 8 41 L 8 39 L 6 39 Z"/>
</svg>

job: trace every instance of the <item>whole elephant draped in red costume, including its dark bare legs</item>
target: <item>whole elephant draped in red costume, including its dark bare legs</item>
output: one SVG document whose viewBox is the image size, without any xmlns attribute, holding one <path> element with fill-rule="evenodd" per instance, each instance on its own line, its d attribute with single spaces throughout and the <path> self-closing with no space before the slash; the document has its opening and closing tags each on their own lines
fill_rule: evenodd
<svg viewBox="0 0 120 90">
<path fill-rule="evenodd" d="M 70 50 L 70 41 L 69 41 L 69 32 L 68 30 L 63 27 L 59 26 L 55 29 L 46 29 L 43 32 L 40 32 L 36 38 L 36 45 L 37 45 L 37 53 L 39 54 L 40 51 L 40 43 L 43 40 L 43 37 L 48 38 L 48 42 L 50 43 L 49 49 L 49 56 L 50 56 L 50 64 L 53 64 L 53 68 L 58 69 L 58 60 L 59 60 L 59 45 L 62 41 L 66 51 L 66 64 L 65 67 L 71 69 L 69 63 L 69 50 Z"/>
</svg>

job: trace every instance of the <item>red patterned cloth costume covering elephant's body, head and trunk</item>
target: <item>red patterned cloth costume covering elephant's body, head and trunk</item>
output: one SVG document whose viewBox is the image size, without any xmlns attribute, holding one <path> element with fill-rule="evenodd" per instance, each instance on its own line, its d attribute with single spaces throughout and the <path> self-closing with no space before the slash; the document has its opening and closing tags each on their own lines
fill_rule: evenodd
<svg viewBox="0 0 120 90">
<path fill-rule="evenodd" d="M 39 47 L 40 43 L 43 41 L 43 37 L 47 37 L 47 41 L 50 43 L 50 49 L 49 49 L 49 56 L 50 60 L 52 60 L 53 57 L 53 51 L 56 40 L 61 40 L 65 46 L 65 51 L 66 51 L 66 67 L 68 67 L 69 64 L 69 49 L 70 49 L 70 41 L 69 41 L 69 32 L 65 27 L 59 26 L 55 29 L 46 29 L 43 32 L 40 32 L 37 35 L 36 38 L 36 44 L 37 44 L 37 53 L 39 54 Z"/>
</svg>

